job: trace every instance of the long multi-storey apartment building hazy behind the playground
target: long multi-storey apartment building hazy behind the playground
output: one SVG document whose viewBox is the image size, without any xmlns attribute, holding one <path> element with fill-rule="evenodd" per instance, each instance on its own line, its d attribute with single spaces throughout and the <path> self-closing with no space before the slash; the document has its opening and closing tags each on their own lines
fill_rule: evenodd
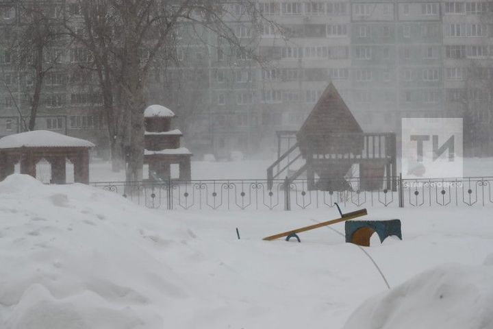
<svg viewBox="0 0 493 329">
<path fill-rule="evenodd" d="M 456 117 L 465 110 L 475 112 L 478 127 L 490 129 L 489 3 L 258 0 L 257 5 L 266 19 L 260 30 L 244 21 L 241 5 L 229 4 L 229 24 L 244 51 L 231 51 L 207 30 L 184 24 L 176 62 L 149 77 L 149 102 L 173 108 L 195 154 L 227 158 L 233 150 L 255 154 L 274 147 L 275 131 L 298 129 L 330 81 L 367 131 L 398 131 L 401 117 Z M 22 90 L 31 88 L 29 74 L 14 67 L 8 52 L 7 27 L 22 25 L 16 15 L 15 5 L 2 4 L 1 135 L 16 132 L 15 104 L 27 108 Z M 94 77 L 63 69 L 87 61 L 87 54 L 73 48 L 57 56 L 65 66 L 48 75 L 37 127 L 106 145 Z"/>
</svg>

